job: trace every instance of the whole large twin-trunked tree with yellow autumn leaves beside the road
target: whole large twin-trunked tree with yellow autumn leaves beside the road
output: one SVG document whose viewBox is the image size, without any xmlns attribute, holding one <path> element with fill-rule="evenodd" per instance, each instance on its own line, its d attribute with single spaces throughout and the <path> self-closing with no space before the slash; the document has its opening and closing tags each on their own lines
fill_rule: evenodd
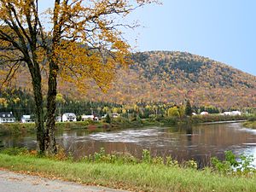
<svg viewBox="0 0 256 192">
<path fill-rule="evenodd" d="M 132 10 L 154 0 L 53 0 L 44 14 L 38 0 L 0 0 L 0 61 L 3 84 L 27 67 L 36 102 L 38 149 L 55 154 L 58 81 L 84 89 L 90 78 L 108 89 L 119 66 L 129 64 L 130 46 L 122 36 Z M 50 15 L 49 19 L 45 16 Z M 1 75 L 1 73 L 0 73 Z M 3 74 L 2 74 L 3 77 Z M 42 79 L 48 78 L 44 129 Z"/>
</svg>

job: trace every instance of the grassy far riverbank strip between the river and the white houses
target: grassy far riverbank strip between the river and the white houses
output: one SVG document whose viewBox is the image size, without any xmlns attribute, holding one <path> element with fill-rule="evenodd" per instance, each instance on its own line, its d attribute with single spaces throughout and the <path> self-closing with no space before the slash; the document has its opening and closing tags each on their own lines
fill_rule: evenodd
<svg viewBox="0 0 256 192">
<path fill-rule="evenodd" d="M 140 128 L 145 126 L 173 126 L 173 125 L 196 125 L 201 123 L 228 122 L 246 120 L 247 116 L 229 116 L 229 115 L 195 115 L 192 117 L 163 117 L 155 116 L 149 119 L 126 119 L 119 117 L 112 119 L 108 124 L 104 121 L 77 121 L 77 122 L 57 122 L 56 131 L 78 130 L 83 129 L 91 132 L 114 131 L 126 128 Z M 11 123 L 0 124 L 0 135 L 17 135 L 26 133 L 35 133 L 34 123 Z"/>
</svg>

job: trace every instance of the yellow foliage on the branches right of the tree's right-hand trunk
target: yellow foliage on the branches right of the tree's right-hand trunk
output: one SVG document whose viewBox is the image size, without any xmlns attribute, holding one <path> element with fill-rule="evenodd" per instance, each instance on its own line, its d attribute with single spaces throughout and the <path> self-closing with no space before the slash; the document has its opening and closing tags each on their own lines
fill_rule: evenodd
<svg viewBox="0 0 256 192">
<path fill-rule="evenodd" d="M 103 91 L 108 90 L 116 70 L 131 64 L 131 48 L 121 31 L 125 24 L 119 20 L 130 14 L 136 3 L 152 2 L 81 0 L 55 3 L 51 21 L 55 33 L 51 36 L 60 39 L 52 45 L 49 60 L 58 65 L 61 80 L 83 90 L 88 86 L 84 79 L 94 79 Z"/>
</svg>

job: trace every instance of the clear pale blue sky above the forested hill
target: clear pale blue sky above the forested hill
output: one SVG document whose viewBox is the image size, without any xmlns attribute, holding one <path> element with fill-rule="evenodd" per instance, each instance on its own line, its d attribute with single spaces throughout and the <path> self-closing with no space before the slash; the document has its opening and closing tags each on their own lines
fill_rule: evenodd
<svg viewBox="0 0 256 192">
<path fill-rule="evenodd" d="M 186 51 L 256 75 L 255 0 L 160 1 L 130 15 L 141 27 L 125 38 L 137 51 Z"/>
</svg>

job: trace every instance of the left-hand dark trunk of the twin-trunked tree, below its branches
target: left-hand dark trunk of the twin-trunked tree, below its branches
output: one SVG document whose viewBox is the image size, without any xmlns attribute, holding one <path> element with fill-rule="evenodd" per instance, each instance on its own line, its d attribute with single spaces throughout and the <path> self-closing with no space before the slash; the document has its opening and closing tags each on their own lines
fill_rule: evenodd
<svg viewBox="0 0 256 192">
<path fill-rule="evenodd" d="M 39 68 L 38 68 L 39 70 Z M 37 142 L 39 154 L 44 154 L 44 107 L 43 107 L 43 95 L 42 95 L 42 79 L 41 73 L 37 69 L 32 73 L 32 86 L 34 92 L 34 99 L 36 103 L 36 127 L 37 127 Z"/>
</svg>

